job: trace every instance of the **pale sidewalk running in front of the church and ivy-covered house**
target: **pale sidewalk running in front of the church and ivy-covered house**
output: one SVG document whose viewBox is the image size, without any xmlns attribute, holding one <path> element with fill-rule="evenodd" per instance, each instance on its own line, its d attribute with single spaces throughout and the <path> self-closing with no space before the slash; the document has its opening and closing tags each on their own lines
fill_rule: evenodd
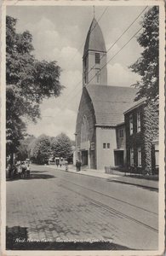
<svg viewBox="0 0 166 256">
<path fill-rule="evenodd" d="M 61 166 L 61 167 L 57 168 L 57 166 L 50 165 L 48 167 L 66 172 L 65 166 Z M 80 172 L 77 172 L 76 167 L 70 166 L 70 165 L 68 166 L 67 172 L 74 172 L 76 174 L 88 175 L 88 176 L 92 176 L 92 177 L 100 177 L 100 178 L 108 179 L 110 182 L 126 183 L 126 184 L 130 184 L 130 185 L 145 187 L 147 189 L 158 190 L 158 181 L 149 180 L 149 179 L 139 177 L 139 176 L 133 177 L 133 176 L 130 176 L 129 173 L 127 173 L 125 175 L 124 172 L 113 171 L 114 172 L 113 174 L 107 174 L 107 173 L 105 173 L 104 170 L 94 170 L 94 169 L 87 169 L 87 168 L 86 169 L 82 168 L 82 170 Z"/>
</svg>

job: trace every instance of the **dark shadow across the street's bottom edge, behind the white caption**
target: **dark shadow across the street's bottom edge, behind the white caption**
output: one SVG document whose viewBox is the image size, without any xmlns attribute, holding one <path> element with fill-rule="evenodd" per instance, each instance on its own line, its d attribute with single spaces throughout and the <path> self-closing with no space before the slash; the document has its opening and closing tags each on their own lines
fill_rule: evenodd
<svg viewBox="0 0 166 256">
<path fill-rule="evenodd" d="M 110 241 L 28 241 L 26 227 L 6 228 L 7 250 L 132 250 Z"/>
</svg>

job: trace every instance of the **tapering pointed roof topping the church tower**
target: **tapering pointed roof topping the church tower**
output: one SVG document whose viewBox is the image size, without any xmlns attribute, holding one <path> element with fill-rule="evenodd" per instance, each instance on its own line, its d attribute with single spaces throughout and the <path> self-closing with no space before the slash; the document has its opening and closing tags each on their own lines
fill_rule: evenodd
<svg viewBox="0 0 166 256">
<path fill-rule="evenodd" d="M 106 45 L 101 32 L 100 26 L 95 19 L 89 27 L 86 42 L 84 45 L 83 55 L 86 55 L 88 50 L 94 50 L 99 52 L 106 52 Z"/>
</svg>

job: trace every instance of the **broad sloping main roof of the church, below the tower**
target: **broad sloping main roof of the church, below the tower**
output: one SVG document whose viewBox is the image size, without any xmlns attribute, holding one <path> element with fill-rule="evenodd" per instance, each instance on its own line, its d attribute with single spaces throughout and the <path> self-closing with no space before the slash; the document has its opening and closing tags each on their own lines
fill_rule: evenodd
<svg viewBox="0 0 166 256">
<path fill-rule="evenodd" d="M 116 126 L 124 121 L 123 112 L 131 108 L 138 90 L 130 87 L 89 84 L 86 86 L 94 106 L 96 125 Z"/>
</svg>

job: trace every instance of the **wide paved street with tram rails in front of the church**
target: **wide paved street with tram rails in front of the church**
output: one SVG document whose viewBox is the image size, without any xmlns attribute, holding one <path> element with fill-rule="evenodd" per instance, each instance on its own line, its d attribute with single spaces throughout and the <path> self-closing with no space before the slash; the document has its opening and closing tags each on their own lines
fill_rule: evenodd
<svg viewBox="0 0 166 256">
<path fill-rule="evenodd" d="M 30 179 L 7 181 L 7 227 L 26 230 L 29 241 L 157 250 L 157 205 L 157 191 L 51 166 L 32 165 Z"/>
</svg>

